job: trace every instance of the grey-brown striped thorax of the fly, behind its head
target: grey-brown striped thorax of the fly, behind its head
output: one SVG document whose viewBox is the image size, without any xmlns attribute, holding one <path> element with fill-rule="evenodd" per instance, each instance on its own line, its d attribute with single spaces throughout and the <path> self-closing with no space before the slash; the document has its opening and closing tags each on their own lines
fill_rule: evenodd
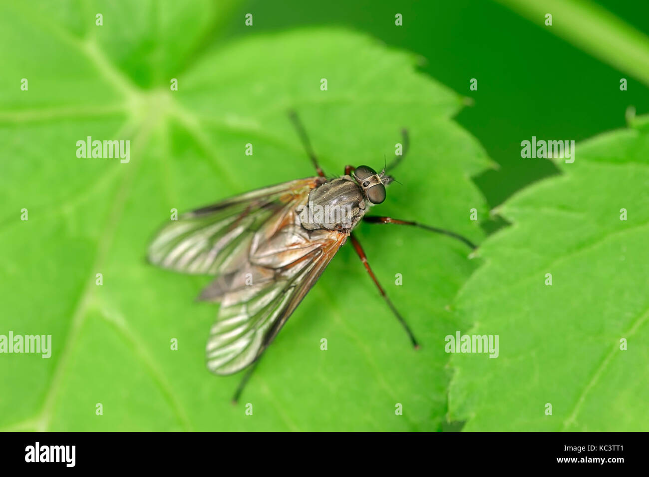
<svg viewBox="0 0 649 477">
<path fill-rule="evenodd" d="M 367 212 L 363 191 L 349 176 L 325 182 L 309 193 L 309 201 L 297 209 L 306 230 L 351 230 Z"/>
</svg>

